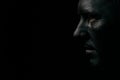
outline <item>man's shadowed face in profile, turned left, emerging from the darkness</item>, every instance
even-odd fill
[[[111,49],[116,39],[118,16],[115,11],[114,5],[107,0],[80,0],[78,3],[80,22],[74,36],[83,39],[84,54],[90,56],[92,66],[106,63],[114,51]]]

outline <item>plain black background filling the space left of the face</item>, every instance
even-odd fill
[[[79,22],[77,3],[78,0],[32,1],[24,5],[5,2],[4,65],[8,78],[80,75],[84,61],[80,60],[80,47],[73,38]]]

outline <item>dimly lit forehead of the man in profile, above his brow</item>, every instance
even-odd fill
[[[107,0],[79,0],[78,9],[88,12],[106,12],[112,9],[111,2]]]

